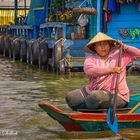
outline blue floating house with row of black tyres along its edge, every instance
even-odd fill
[[[140,48],[138,0],[31,0],[24,22],[14,17],[15,25],[0,26],[0,52],[39,68],[81,71],[88,55],[83,47],[98,32]],[[130,64],[129,72],[139,65]]]

